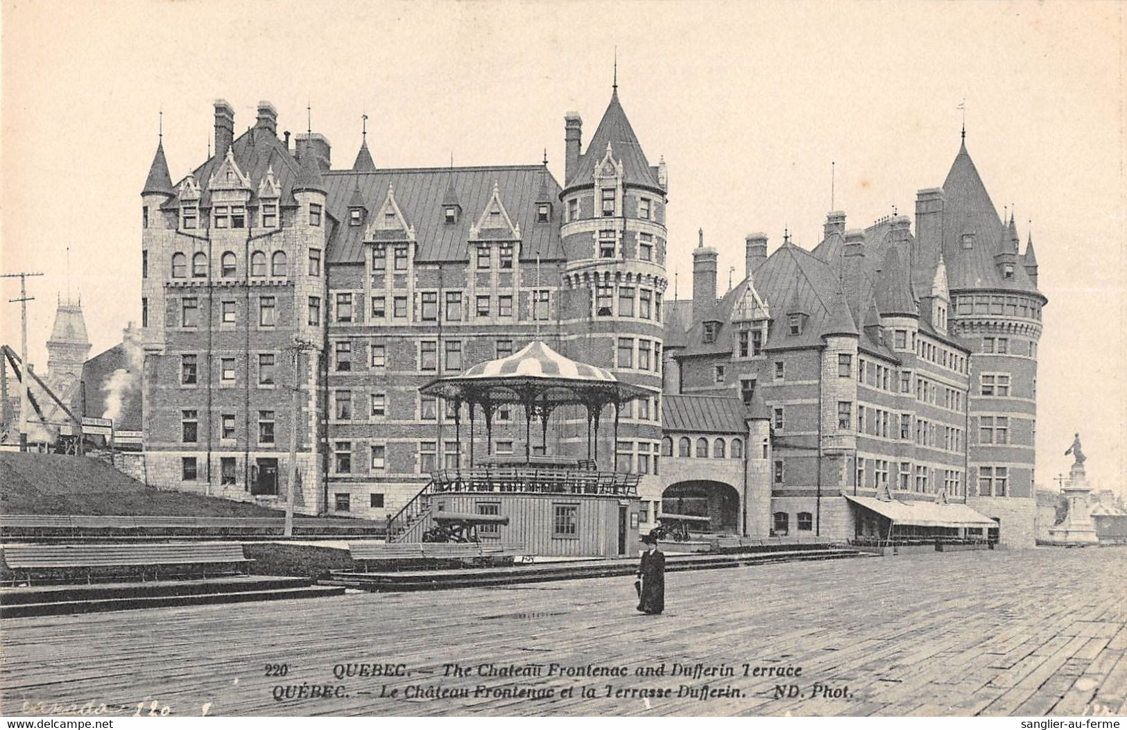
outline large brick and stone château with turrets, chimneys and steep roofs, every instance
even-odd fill
[[[753,234],[724,296],[701,235],[693,297],[668,301],[666,166],[616,87],[586,145],[565,117],[562,182],[547,159],[380,167],[366,133],[334,168],[268,103],[238,137],[231,105],[214,113],[214,154],[174,184],[159,144],[142,192],[150,483],[278,504],[292,449],[300,511],[382,518],[464,465],[471,430],[494,454],[583,456],[578,408],[527,445],[520,408],[488,429],[462,412],[459,443],[419,394],[543,340],[657,393],[607,409],[594,445],[641,475],[642,529],[664,500],[715,529],[844,540],[870,519],[845,495],[885,495],[967,502],[1031,544],[1045,297],[966,148],[914,235],[843,213],[813,251]]]

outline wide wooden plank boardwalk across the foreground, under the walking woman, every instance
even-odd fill
[[[1127,548],[1040,549],[671,573],[662,616],[635,612],[631,579],[604,578],[6,620],[0,711],[1116,713],[1124,576]],[[548,676],[552,662],[624,676]]]

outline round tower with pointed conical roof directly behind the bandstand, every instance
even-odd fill
[[[567,257],[564,319],[569,357],[610,368],[620,380],[662,388],[666,228],[665,176],[650,166],[619,101],[618,84],[591,142],[580,149],[578,115],[565,118],[567,177],[560,240]],[[660,399],[628,403],[619,443],[601,429],[598,459],[657,453]],[[613,412],[604,413],[610,424]]]

